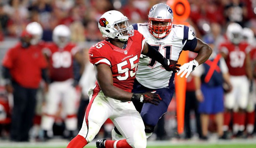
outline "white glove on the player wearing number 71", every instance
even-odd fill
[[[185,63],[180,66],[180,70],[178,71],[177,75],[180,75],[182,78],[186,74],[186,78],[188,78],[189,74],[198,66],[198,62],[196,60],[190,61],[189,63]]]

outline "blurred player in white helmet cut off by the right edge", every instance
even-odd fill
[[[256,103],[256,45],[254,33],[250,28],[243,28],[243,39],[251,45],[251,64],[253,67],[253,87],[249,94],[248,105],[246,108],[246,135],[251,137],[254,130],[255,122],[255,103]]]

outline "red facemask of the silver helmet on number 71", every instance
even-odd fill
[[[160,25],[157,25],[157,23],[159,23]],[[172,20],[171,19],[149,18],[148,26],[149,26],[150,33],[155,38],[164,38],[171,31]]]

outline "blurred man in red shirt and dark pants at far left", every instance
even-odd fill
[[[41,49],[31,45],[32,36],[27,31],[21,34],[21,41],[7,51],[3,59],[3,78],[8,93],[13,93],[13,110],[10,140],[29,141],[36,94],[42,78],[49,82],[47,63]]]

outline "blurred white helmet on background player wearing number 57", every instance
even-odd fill
[[[227,26],[227,38],[234,44],[242,41],[243,28],[238,23],[230,23]]]

